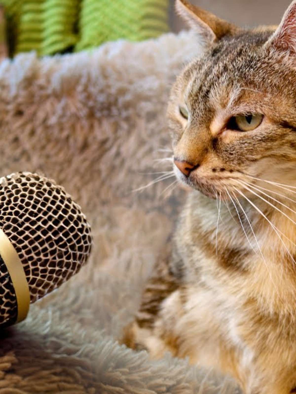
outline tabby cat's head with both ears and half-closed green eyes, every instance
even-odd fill
[[[253,30],[176,8],[204,43],[170,95],[177,178],[210,197],[256,178],[296,186],[296,0],[278,28]]]

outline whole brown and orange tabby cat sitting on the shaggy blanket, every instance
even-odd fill
[[[204,45],[168,106],[191,192],[123,342],[230,374],[247,394],[296,392],[296,0],[279,27],[252,30],[176,8]]]

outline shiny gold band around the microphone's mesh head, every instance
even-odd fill
[[[0,229],[0,255],[7,267],[17,298],[17,321],[24,320],[30,306],[30,292],[22,262],[9,238]]]

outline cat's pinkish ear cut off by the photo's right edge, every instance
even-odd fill
[[[265,46],[296,54],[296,0],[290,4],[281,24]]]

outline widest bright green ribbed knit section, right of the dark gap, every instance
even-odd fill
[[[76,50],[119,38],[141,41],[167,32],[168,0],[82,0]]]

